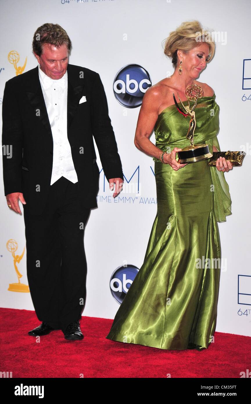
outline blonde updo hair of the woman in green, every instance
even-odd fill
[[[178,63],[177,50],[182,50],[184,53],[188,53],[189,50],[201,45],[201,40],[198,42],[198,33],[205,35],[205,43],[209,46],[209,58],[210,61],[214,55],[215,43],[211,40],[211,33],[209,31],[203,31],[199,21],[186,21],[182,23],[175,31],[170,32],[169,37],[165,39],[164,53],[169,58],[172,58],[172,64],[174,69]],[[208,38],[207,38],[208,36]]]

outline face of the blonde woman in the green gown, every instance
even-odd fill
[[[205,69],[209,57],[209,46],[202,42],[198,47],[191,49],[188,53],[182,53],[182,69],[191,78],[196,79]],[[179,65],[180,63],[178,63]]]

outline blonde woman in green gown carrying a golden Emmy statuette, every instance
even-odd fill
[[[197,42],[198,21],[184,22],[165,40],[174,73],[149,88],[134,143],[155,161],[157,215],[144,263],[117,311],[107,339],[160,349],[202,350],[213,341],[217,318],[221,247],[218,223],[231,215],[224,158],[179,164],[176,152],[190,144],[189,118],[178,112],[173,92],[187,105],[186,88],[204,92],[195,109],[194,143],[220,151],[219,106],[213,89],[197,81],[213,58],[214,42]],[[207,32],[205,32],[205,36]],[[210,37],[209,37],[210,38]],[[181,105],[181,103],[179,103]],[[155,131],[156,145],[149,137]]]

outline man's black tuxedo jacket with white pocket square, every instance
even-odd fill
[[[70,64],[67,73],[67,137],[79,197],[83,207],[95,208],[99,168],[93,137],[107,180],[123,179],[121,160],[99,74]],[[79,104],[83,95],[86,102]],[[2,120],[2,145],[12,151],[11,158],[3,152],[4,195],[22,192],[29,213],[40,215],[50,187],[53,139],[38,66],[6,82]]]

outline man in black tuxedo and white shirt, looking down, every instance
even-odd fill
[[[10,209],[23,204],[27,278],[42,321],[32,336],[61,329],[83,339],[86,300],[84,227],[97,207],[99,168],[115,198],[123,172],[107,99],[98,73],[68,64],[71,41],[58,24],[33,37],[39,65],[6,82],[2,103],[4,194]]]

